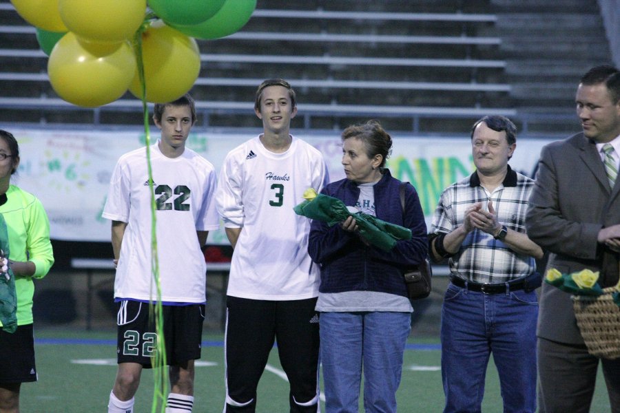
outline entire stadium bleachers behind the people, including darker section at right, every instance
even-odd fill
[[[527,130],[537,118],[549,123],[541,109],[565,123],[572,94],[566,83],[610,60],[597,2],[526,3],[260,1],[239,32],[198,41],[203,67],[192,94],[205,116],[198,126],[255,126],[247,104],[260,79],[276,76],[301,92],[305,116],[293,127],[340,129],[375,113],[390,129],[441,134],[498,113],[530,123]],[[134,123],[140,107],[130,102],[97,109],[60,102],[34,34],[8,1],[0,2],[0,121]],[[603,47],[579,59],[571,54],[597,40]]]

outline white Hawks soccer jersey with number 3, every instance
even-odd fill
[[[310,220],[293,207],[309,187],[327,182],[316,148],[293,137],[285,153],[265,149],[260,137],[230,151],[216,202],[228,228],[242,227],[232,257],[227,294],[268,300],[318,296],[320,273],[308,255]]]

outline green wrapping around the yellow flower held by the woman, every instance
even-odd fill
[[[411,230],[403,226],[391,224],[367,213],[352,213],[344,202],[322,193],[313,200],[305,200],[293,208],[297,215],[326,222],[333,226],[352,216],[360,228],[360,235],[371,245],[390,251],[397,240],[411,240]]]

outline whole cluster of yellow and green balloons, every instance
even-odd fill
[[[10,1],[37,28],[54,91],[84,107],[111,103],[127,89],[142,99],[143,87],[148,102],[182,96],[200,72],[194,38],[233,34],[256,8],[256,0]]]

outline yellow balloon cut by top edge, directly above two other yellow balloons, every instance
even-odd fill
[[[146,0],[59,0],[69,30],[90,41],[131,39],[144,20]]]

